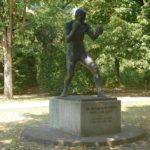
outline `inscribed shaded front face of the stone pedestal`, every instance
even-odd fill
[[[120,101],[90,101],[82,105],[82,134],[118,133],[121,130]]]

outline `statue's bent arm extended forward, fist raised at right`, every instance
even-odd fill
[[[93,30],[92,30],[92,28],[89,26],[89,25],[87,25],[87,34],[88,34],[88,36],[94,41],[94,40],[96,40],[97,38],[98,38],[98,36],[100,35],[100,34],[102,34],[103,33],[103,27],[102,26],[98,26],[97,27],[97,29],[96,29],[96,31],[94,32]]]

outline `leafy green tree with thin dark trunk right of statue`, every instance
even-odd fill
[[[88,11],[88,20],[93,24],[102,23],[104,34],[96,42],[96,54],[111,57],[114,66],[115,84],[120,84],[120,66],[123,59],[139,59],[139,45],[142,36],[142,26],[137,22],[141,13],[141,5],[137,1],[121,0],[82,1],[82,6]],[[101,43],[101,45],[99,44]],[[99,46],[98,46],[99,45]]]

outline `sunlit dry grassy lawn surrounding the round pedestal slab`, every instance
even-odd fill
[[[24,99],[24,102],[27,99]],[[31,99],[36,101],[33,97]],[[36,142],[27,142],[20,139],[22,131],[28,125],[48,121],[48,107],[33,106],[29,108],[0,109],[0,150],[150,150],[149,116],[150,101],[144,101],[143,99],[143,101],[138,102],[122,102],[122,124],[144,128],[147,132],[147,138],[135,143],[113,147],[63,147],[53,145],[45,146]]]

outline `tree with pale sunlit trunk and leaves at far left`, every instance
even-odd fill
[[[26,27],[27,6],[39,4],[41,1],[2,0],[0,2],[0,41],[2,41],[0,43],[4,55],[4,95],[8,99],[13,98],[12,49],[14,43],[20,38],[18,35]],[[16,38],[18,39],[16,40]]]

